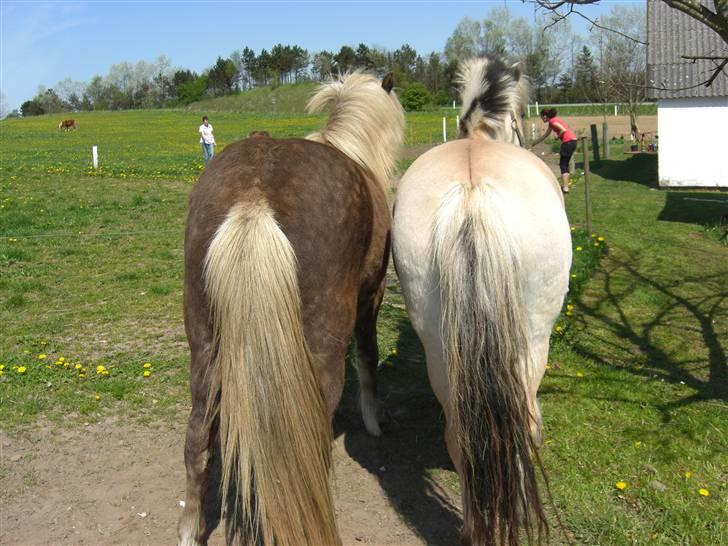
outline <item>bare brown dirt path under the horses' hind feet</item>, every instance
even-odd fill
[[[418,440],[414,426],[370,438],[357,421],[337,416],[333,447],[344,544],[455,543],[458,501],[423,478],[425,466],[448,467],[443,448]],[[118,419],[0,433],[0,544],[173,544],[183,436],[181,425]],[[218,527],[210,544],[223,537]]]

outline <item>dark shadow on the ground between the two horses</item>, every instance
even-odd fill
[[[404,312],[392,312],[385,304],[382,315],[389,315],[389,327],[399,332],[397,353],[387,355],[378,376],[379,399],[389,410],[389,423],[380,438],[367,434],[358,410],[356,374],[349,369],[334,434],[344,435],[349,456],[376,477],[389,502],[426,544],[457,544],[459,510],[453,496],[431,478],[453,467],[423,350]]]

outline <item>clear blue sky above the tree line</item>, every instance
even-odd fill
[[[622,0],[630,1],[630,0]],[[616,3],[588,8],[598,15]],[[633,3],[630,1],[630,3]],[[532,20],[520,0],[479,1],[67,1],[0,0],[0,90],[12,109],[39,85],[64,78],[87,83],[112,64],[166,55],[175,67],[201,72],[218,55],[277,43],[309,53],[365,43],[386,49],[410,44],[442,51],[464,17],[482,19],[496,6]],[[573,20],[576,30],[584,25]],[[580,28],[581,25],[581,28]]]

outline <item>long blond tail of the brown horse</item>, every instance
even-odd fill
[[[265,202],[230,209],[205,257],[222,499],[241,543],[337,544],[331,427],[304,338],[297,261]],[[223,503],[223,505],[225,502]]]

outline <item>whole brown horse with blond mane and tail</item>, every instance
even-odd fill
[[[219,434],[229,542],[338,544],[331,418],[356,335],[361,406],[375,407],[376,317],[390,251],[389,177],[404,113],[391,75],[323,85],[307,139],[263,133],[225,148],[191,192],[184,314],[192,411],[180,544],[204,544]],[[223,502],[225,506],[226,502]],[[232,535],[236,535],[233,537]]]

